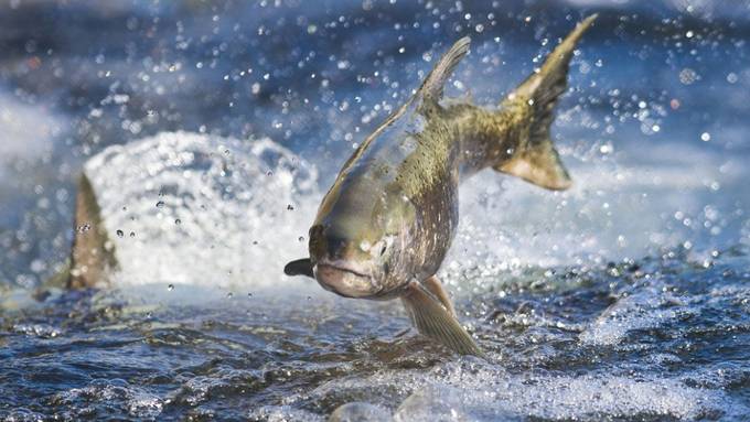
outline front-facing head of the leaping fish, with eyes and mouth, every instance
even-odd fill
[[[342,296],[389,299],[410,279],[415,212],[400,195],[394,201],[383,192],[363,203],[339,204],[310,229],[313,274],[323,289]]]

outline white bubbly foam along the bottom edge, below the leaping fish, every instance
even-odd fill
[[[289,404],[310,397],[371,392],[374,404],[404,396],[396,408],[396,421],[507,420],[542,418],[589,420],[597,418],[666,416],[696,419],[722,414],[728,398],[720,391],[690,388],[678,379],[639,375],[591,372],[559,376],[547,372],[514,375],[501,366],[478,360],[452,361],[435,367],[430,374],[384,370],[363,378],[326,382],[311,393],[292,396]],[[385,397],[383,397],[385,394]],[[726,414],[725,414],[726,415]]]

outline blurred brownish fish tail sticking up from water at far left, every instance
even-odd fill
[[[74,230],[67,286],[85,289],[106,282],[108,272],[118,267],[115,248],[107,236],[101,209],[85,173],[78,180]]]

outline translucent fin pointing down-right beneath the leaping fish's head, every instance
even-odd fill
[[[410,282],[401,300],[419,333],[459,355],[484,356],[456,317],[421,283]]]

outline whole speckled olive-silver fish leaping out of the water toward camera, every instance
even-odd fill
[[[419,333],[482,356],[436,277],[456,236],[459,182],[492,167],[548,190],[570,187],[549,126],[574,47],[596,17],[579,23],[499,109],[441,102],[469,52],[469,37],[457,41],[344,163],[310,228],[310,258],[289,262],[285,273],[314,278],[346,297],[400,297]]]

